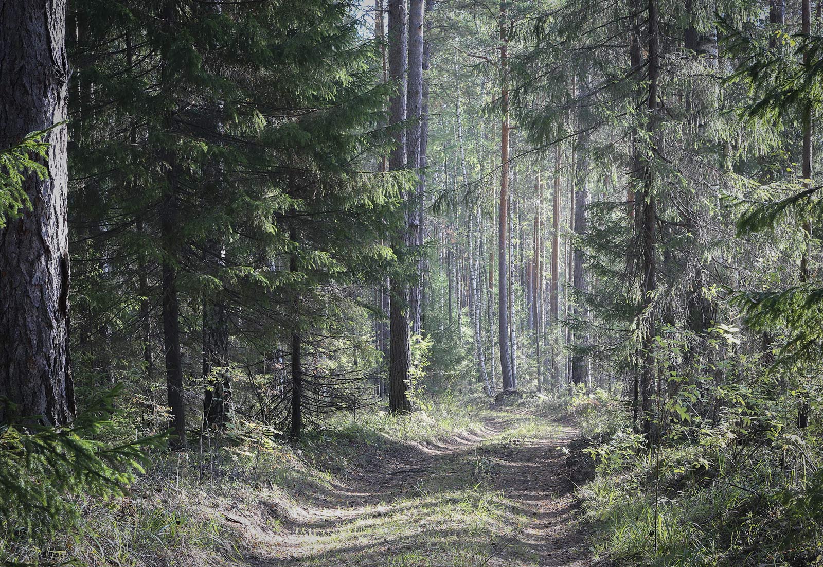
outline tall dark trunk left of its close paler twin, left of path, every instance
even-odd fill
[[[391,123],[406,119],[406,72],[408,54],[408,29],[405,0],[388,2],[388,75],[397,88],[391,100]],[[389,168],[393,171],[406,167],[407,138],[405,130],[395,132],[396,146],[389,157]],[[408,245],[407,229],[402,228],[392,235],[392,248],[403,253]],[[391,280],[389,306],[389,365],[388,365],[388,407],[393,413],[407,413],[412,410],[407,397],[409,374],[409,318],[408,286],[401,277]]]

